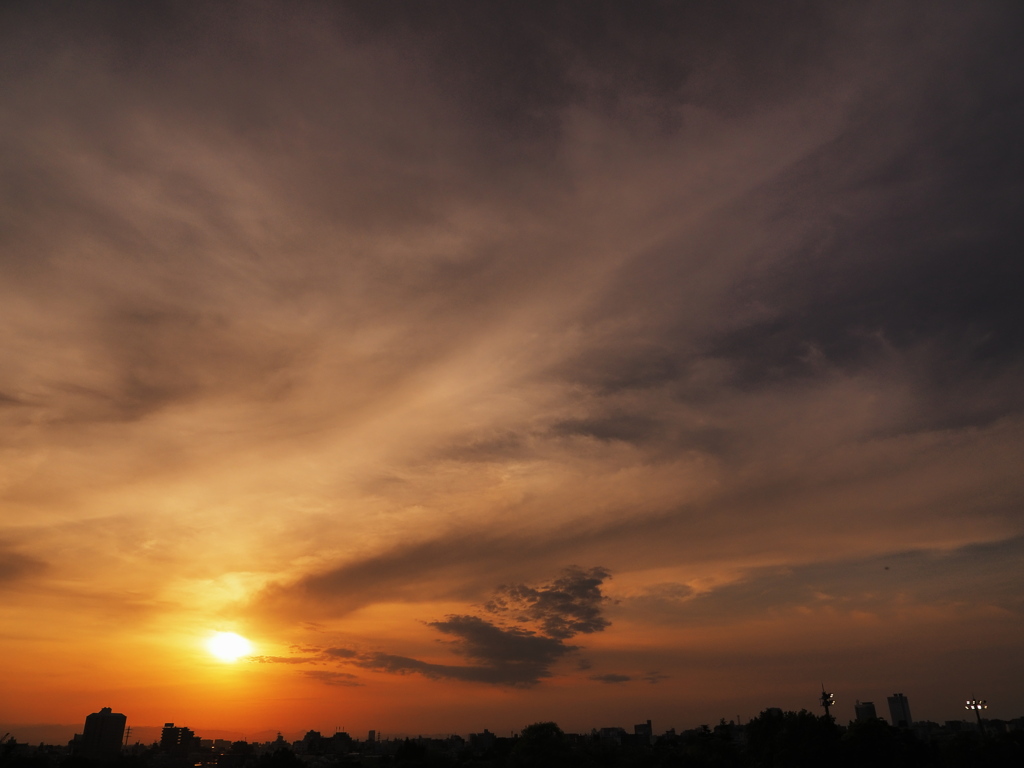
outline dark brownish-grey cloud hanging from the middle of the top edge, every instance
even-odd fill
[[[590,102],[609,116],[637,119],[644,106],[671,129],[673,101],[737,112],[752,100],[799,87],[844,13],[758,3],[456,2],[441,6],[346,6],[368,34],[406,40],[415,31],[445,90],[497,140],[540,139],[558,131],[560,108]],[[813,30],[813,32],[808,32]],[[727,60],[712,40],[726,36]],[[779,57],[779,48],[787,51]],[[711,87],[718,65],[731,86]],[[740,97],[741,96],[741,97]],[[664,114],[663,114],[664,111]]]

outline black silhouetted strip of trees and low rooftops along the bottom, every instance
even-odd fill
[[[766,710],[745,724],[724,720],[714,728],[663,735],[649,722],[634,733],[602,728],[589,734],[564,733],[552,722],[535,723],[511,737],[489,731],[447,738],[367,740],[347,733],[325,737],[309,731],[298,741],[215,742],[186,728],[165,728],[161,742],[96,754],[76,737],[67,746],[0,744],[2,768],[330,768],[331,766],[487,766],[488,768],[686,766],[717,768],[1020,768],[1024,765],[1024,718],[945,725],[919,722],[895,728],[884,720],[840,726],[807,711]],[[92,754],[90,754],[90,750]]]

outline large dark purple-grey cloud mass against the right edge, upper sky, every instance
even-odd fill
[[[630,336],[596,339],[600,353],[584,350],[569,376],[604,394],[674,382],[692,401],[701,394],[692,371],[707,360],[726,367],[727,391],[799,386],[898,359],[919,397],[894,431],[1019,413],[1022,390],[1010,382],[1024,365],[1013,289],[1024,278],[1013,202],[1022,117],[1010,105],[1024,77],[1018,68],[1004,75],[1016,27],[991,25],[969,25],[979,54],[955,49],[971,59],[965,71],[953,74],[965,65],[952,54],[911,70],[907,85],[918,90],[865,100],[840,136],[703,222],[726,245],[735,221],[760,229],[718,297],[714,324],[694,332],[692,307],[673,302],[703,266],[687,232],[624,266],[595,318],[607,327],[621,313]],[[641,301],[659,311],[643,312]]]

